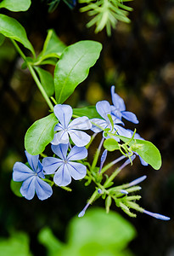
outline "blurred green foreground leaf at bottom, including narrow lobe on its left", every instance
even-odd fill
[[[64,244],[53,232],[44,228],[39,241],[48,249],[49,256],[128,256],[127,245],[136,236],[136,230],[116,212],[109,214],[104,209],[87,210],[83,218],[70,220]]]

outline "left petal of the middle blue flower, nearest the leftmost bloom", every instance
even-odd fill
[[[61,166],[63,163],[63,160],[59,160],[55,157],[45,157],[42,160],[43,170],[47,174],[53,174],[54,172],[56,172],[59,166]]]

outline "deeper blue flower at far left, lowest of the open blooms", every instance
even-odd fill
[[[36,192],[40,200],[45,200],[53,194],[51,186],[44,182],[44,174],[42,172],[42,164],[39,160],[39,155],[31,155],[25,151],[31,169],[25,164],[16,162],[13,168],[13,180],[22,182],[20,193],[26,199],[31,200]]]

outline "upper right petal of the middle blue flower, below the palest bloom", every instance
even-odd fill
[[[87,148],[74,146],[70,150],[67,160],[81,160],[87,157]]]

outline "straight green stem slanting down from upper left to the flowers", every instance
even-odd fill
[[[14,44],[15,49],[18,51],[18,53],[19,53],[20,56],[22,57],[22,59],[26,62],[27,67],[29,68],[29,70],[30,70],[30,72],[31,72],[31,75],[32,75],[33,79],[35,80],[38,89],[41,91],[42,96],[44,97],[45,101],[48,103],[49,108],[50,108],[51,110],[53,110],[53,104],[52,104],[52,102],[50,101],[50,99],[49,99],[49,97],[48,97],[46,91],[43,89],[41,82],[40,82],[39,79],[37,78],[36,73],[35,73],[33,67],[31,67],[31,64],[29,64],[29,63],[26,61],[25,54],[24,54],[24,53],[22,52],[22,50],[20,49],[19,45],[16,44],[16,42],[14,41],[14,39],[11,39],[11,41],[12,41],[12,43]]]

